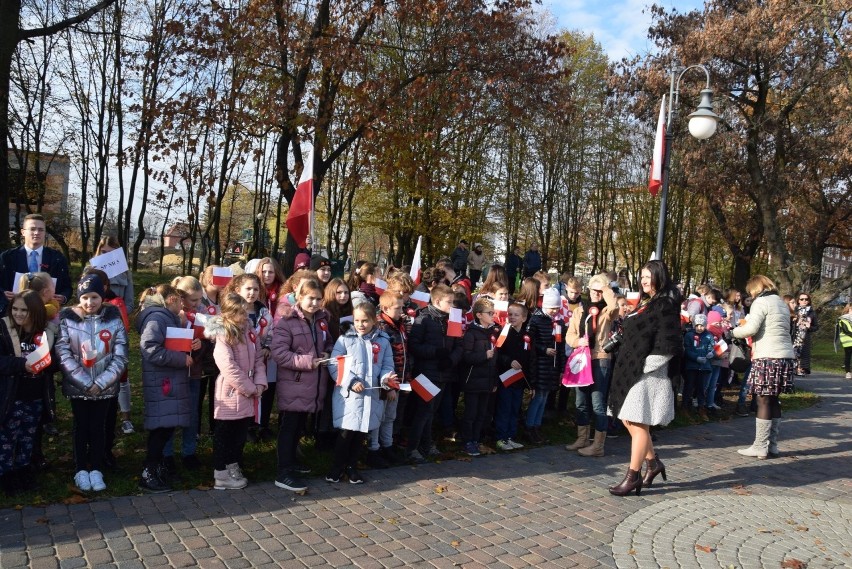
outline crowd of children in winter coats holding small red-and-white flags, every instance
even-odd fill
[[[580,280],[566,276],[551,287],[539,272],[510,299],[500,265],[474,291],[447,260],[425,270],[419,283],[405,270],[380,276],[372,263],[359,263],[345,282],[332,278],[327,259],[305,257],[289,279],[274,259],[263,258],[226,285],[208,267],[199,279],[178,277],[142,292],[133,314],[147,431],[140,489],[171,490],[178,428],[183,466],[201,466],[196,448],[205,398],[214,488],[222,490],[247,485],[243,449],[250,439],[277,437],[275,484],[295,492],[307,489],[303,477],[311,472],[300,460],[306,434],[332,451],[325,480],[352,484],[364,480],[364,450],[373,468],[439,456],[439,428],[457,433],[472,457],[493,452],[486,441],[500,451],[522,448],[521,437],[543,444],[545,411],[567,409],[566,364],[584,350],[593,382],[574,390],[578,437],[566,448],[603,456],[613,434],[609,374],[633,307],[611,275],[592,277],[583,297]],[[0,416],[10,418],[0,429],[4,487],[31,484],[26,467],[40,438],[38,417],[51,407],[51,375],[61,373],[73,414],[74,482],[83,491],[104,490],[118,397],[126,389],[128,303],[96,269],[81,278],[78,304],[61,311],[49,276],[28,279],[22,288],[30,290],[17,294],[0,320],[0,368],[12,379],[0,400]],[[746,311],[736,291],[709,287],[684,303],[681,405],[701,419],[718,408],[719,382],[729,382],[730,331]],[[847,378],[850,322],[847,307],[837,327]],[[43,345],[54,357],[33,367],[27,357]],[[127,413],[129,402],[120,411]],[[132,432],[132,424],[123,430]]]

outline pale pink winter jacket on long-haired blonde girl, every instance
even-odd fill
[[[253,417],[254,404],[258,397],[257,387],[266,389],[266,364],[263,352],[256,345],[254,333],[246,330],[242,341],[231,345],[225,339],[222,317],[211,318],[204,335],[216,339],[213,359],[219,368],[216,378],[216,393],[213,399],[213,417],[233,421]]]

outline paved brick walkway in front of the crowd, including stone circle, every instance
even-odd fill
[[[852,381],[789,413],[782,458],[738,455],[754,420],[659,435],[668,482],[607,486],[629,439],[312,480],[0,511],[0,567],[852,567]],[[806,565],[796,565],[795,561]],[[783,564],[783,565],[782,565]]]

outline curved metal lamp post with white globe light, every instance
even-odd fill
[[[707,77],[707,84],[701,90],[701,98],[698,102],[698,108],[694,113],[689,115],[689,134],[698,140],[704,140],[713,136],[716,132],[716,123],[721,120],[719,115],[713,112],[713,90],[710,89],[710,72],[703,65],[690,65],[683,69],[680,73],[673,71],[671,75],[671,86],[669,87],[669,112],[666,118],[666,149],[663,155],[663,179],[662,193],[660,195],[660,221],[657,226],[657,249],[655,252],[656,259],[663,258],[663,241],[666,236],[666,210],[668,209],[669,197],[669,170],[672,153],[672,141],[674,139],[674,129],[672,122],[677,113],[677,105],[680,97],[680,80],[684,74],[690,69],[701,69]],[[677,75],[677,79],[675,79]]]

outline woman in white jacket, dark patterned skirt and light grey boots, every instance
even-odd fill
[[[793,390],[796,354],[790,339],[790,310],[778,296],[775,283],[755,275],[746,283],[754,299],[745,322],[733,330],[735,338],[752,338],[749,389],[757,398],[754,444],[737,452],[764,459],[778,456],[781,402],[778,396]]]

